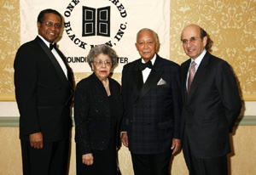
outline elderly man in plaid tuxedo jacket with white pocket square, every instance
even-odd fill
[[[154,31],[139,31],[142,58],[125,65],[122,74],[122,142],[135,175],[168,175],[171,156],[180,150],[180,67],[160,58],[158,46]]]

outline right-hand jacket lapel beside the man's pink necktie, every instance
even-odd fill
[[[207,52],[207,54],[201,60],[201,64],[199,65],[199,67],[195,73],[194,80],[191,84],[188,98],[190,98],[193,95],[193,93],[195,92],[195,88],[198,86],[198,83],[201,82],[201,79],[206,75],[209,57],[210,57],[210,54]]]

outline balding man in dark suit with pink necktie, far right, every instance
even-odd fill
[[[190,175],[227,175],[229,133],[240,114],[236,78],[230,65],[207,51],[212,41],[198,25],[181,35],[190,57],[182,65],[182,145]]]

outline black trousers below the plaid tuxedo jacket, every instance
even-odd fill
[[[135,175],[169,175],[172,150],[160,154],[139,155],[131,152]]]

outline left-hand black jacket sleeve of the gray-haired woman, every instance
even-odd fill
[[[89,86],[84,82],[79,82],[74,97],[75,140],[80,145],[83,155],[91,153],[90,132],[87,125],[90,104]]]

